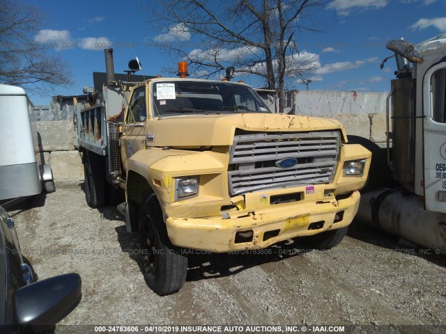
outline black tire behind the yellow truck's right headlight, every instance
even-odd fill
[[[371,191],[378,186],[388,186],[391,182],[390,175],[392,172],[387,165],[387,157],[383,150],[373,141],[360,136],[348,136],[348,143],[360,144],[371,152],[369,176],[366,184],[361,189],[361,193]]]

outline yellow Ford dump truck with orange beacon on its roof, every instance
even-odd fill
[[[106,60],[112,50],[105,50]],[[334,120],[271,113],[248,85],[153,77],[119,81],[78,108],[91,207],[125,189],[144,277],[157,294],[185,282],[187,253],[266,248],[295,237],[331,248],[345,236],[371,154]],[[97,97],[97,99],[95,99]]]

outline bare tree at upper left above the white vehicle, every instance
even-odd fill
[[[50,45],[34,40],[43,20],[38,8],[0,0],[0,82],[44,94],[54,86],[70,86],[65,62],[51,54]]]

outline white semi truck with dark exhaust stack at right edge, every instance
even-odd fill
[[[390,40],[387,49],[394,56],[385,61],[397,60],[397,79],[387,97],[387,129],[383,129],[387,157],[364,138],[357,143],[373,154],[369,180],[384,184],[389,177],[394,186],[363,193],[357,218],[445,253],[446,34],[419,45]],[[350,142],[353,139],[349,137]]]

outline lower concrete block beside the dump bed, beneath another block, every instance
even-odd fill
[[[77,151],[51,152],[47,162],[55,180],[84,180],[84,166]]]

